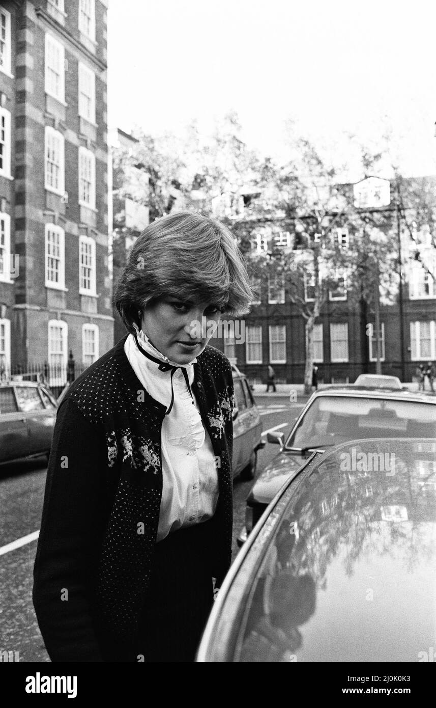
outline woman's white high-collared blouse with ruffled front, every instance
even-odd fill
[[[180,366],[155,349],[142,330],[138,331],[136,326],[135,329],[141,348],[162,362]],[[160,371],[156,362],[143,356],[132,334],[126,338],[124,351],[146,391],[168,409],[171,371]],[[190,387],[194,382],[195,362],[196,359],[182,365],[187,370]],[[195,393],[192,391],[193,405],[180,369],[175,372],[172,382],[174,403],[163,420],[161,431],[163,490],[158,541],[179,528],[210,519],[218,502],[215,454],[211,438],[201,421]]]

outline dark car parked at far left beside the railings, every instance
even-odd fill
[[[57,400],[40,382],[0,384],[0,462],[48,455]]]

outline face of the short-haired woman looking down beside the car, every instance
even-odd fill
[[[167,297],[146,306],[141,328],[161,354],[177,364],[188,364],[206,347],[220,315],[218,307],[210,302]]]

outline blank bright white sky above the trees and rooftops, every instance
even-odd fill
[[[289,120],[342,155],[346,133],[377,147],[389,126],[391,161],[433,174],[435,27],[434,0],[110,0],[108,121],[210,132],[235,110],[279,160]]]

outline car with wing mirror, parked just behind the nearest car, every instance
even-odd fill
[[[420,394],[358,389],[324,389],[310,397],[297,416],[288,439],[273,431],[267,439],[281,445],[278,455],[259,474],[247,498],[241,545],[278,489],[312,450],[358,438],[436,438],[436,401]]]

